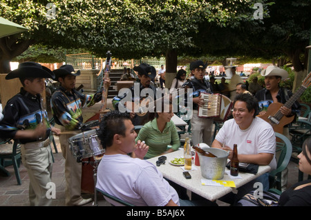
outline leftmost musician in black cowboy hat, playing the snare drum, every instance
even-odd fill
[[[19,78],[23,87],[6,103],[0,137],[21,144],[21,160],[30,179],[30,206],[50,206],[52,202],[46,198],[53,167],[49,136],[50,131],[59,134],[60,130],[48,123],[40,93],[44,91],[44,78],[53,77],[52,71],[34,62],[20,63],[6,75],[6,79]]]

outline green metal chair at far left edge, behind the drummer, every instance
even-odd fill
[[[14,141],[14,143],[4,143],[0,145],[0,161],[1,166],[4,168],[6,166],[6,159],[10,159],[12,162],[15,177],[17,179],[17,184],[21,185],[21,177],[19,175],[19,166],[21,164],[21,145]]]

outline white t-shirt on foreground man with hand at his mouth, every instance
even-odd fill
[[[176,190],[149,161],[124,154],[104,155],[98,167],[96,188],[135,206],[179,205]]]

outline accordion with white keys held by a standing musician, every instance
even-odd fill
[[[214,121],[223,122],[232,109],[232,101],[222,94],[207,94],[201,92],[203,106],[198,108],[198,117],[214,118]]]

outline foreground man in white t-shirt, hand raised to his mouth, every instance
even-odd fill
[[[143,160],[149,147],[140,140],[135,144],[137,134],[128,113],[106,113],[98,137],[106,151],[96,188],[135,206],[194,206],[180,200],[156,166]]]

